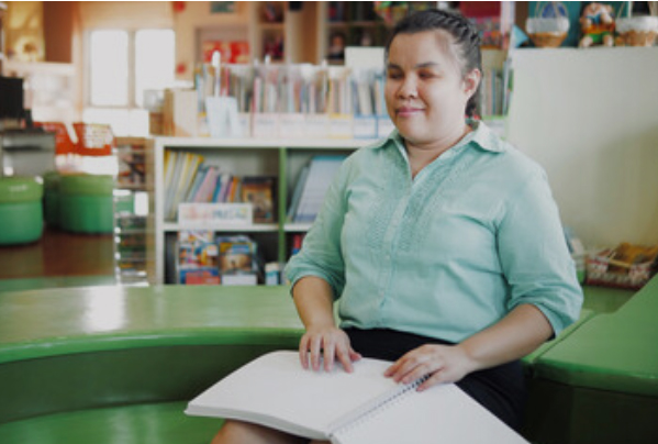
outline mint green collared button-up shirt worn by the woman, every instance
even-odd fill
[[[522,303],[555,334],[582,290],[542,167],[484,124],[411,177],[397,131],[342,165],[301,251],[294,285],[333,288],[342,326],[460,342]]]

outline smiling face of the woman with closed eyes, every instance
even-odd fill
[[[387,110],[400,134],[414,145],[464,131],[466,103],[476,91],[479,71],[462,76],[449,38],[435,31],[398,34],[389,48]]]

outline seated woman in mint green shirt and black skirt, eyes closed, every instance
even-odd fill
[[[445,11],[395,26],[386,102],[397,131],[344,163],[286,273],[303,367],[389,359],[395,381],[456,382],[518,429],[518,358],[577,319],[582,293],[542,168],[465,120],[479,44]],[[216,440],[304,442],[235,422]]]

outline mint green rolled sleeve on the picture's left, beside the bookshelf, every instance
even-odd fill
[[[302,248],[292,256],[285,274],[292,287],[305,276],[326,280],[339,298],[345,287],[345,264],[341,251],[341,233],[346,212],[345,185],[349,159],[341,166],[324,197],[322,209],[304,236]]]

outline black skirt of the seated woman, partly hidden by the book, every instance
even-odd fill
[[[454,345],[446,341],[394,330],[345,329],[352,347],[364,357],[398,360],[405,353],[424,344]],[[520,431],[526,400],[526,388],[521,362],[473,371],[456,382],[501,421]]]

